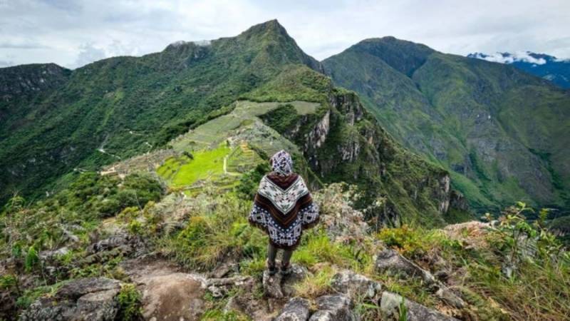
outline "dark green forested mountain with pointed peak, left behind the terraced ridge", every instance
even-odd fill
[[[68,79],[57,91],[22,108],[3,102],[0,200],[44,193],[73,168],[94,169],[162,146],[291,63],[321,68],[277,21],[268,21],[232,38],[178,42],[157,54],[61,71]],[[0,69],[0,79],[25,78],[27,69]],[[19,92],[1,88],[3,96]]]

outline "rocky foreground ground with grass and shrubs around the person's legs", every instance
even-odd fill
[[[215,193],[171,193],[103,220],[87,239],[66,225],[63,246],[40,251],[33,269],[0,261],[0,320],[564,320],[547,309],[568,305],[566,265],[538,264],[529,236],[504,255],[497,221],[375,231],[353,207],[356,192],[314,193],[321,222],[286,276],[264,270],[266,238],[247,225],[249,203]]]

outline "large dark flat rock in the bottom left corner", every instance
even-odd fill
[[[115,320],[119,306],[115,295],[118,280],[86,277],[63,285],[53,297],[41,297],[28,307],[20,320]]]

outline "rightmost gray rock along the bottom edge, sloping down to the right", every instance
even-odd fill
[[[391,292],[383,292],[380,300],[380,310],[390,317],[398,319],[400,316],[400,305],[403,303],[407,310],[408,321],[458,321],[454,317],[443,315],[429,307],[410,301]]]

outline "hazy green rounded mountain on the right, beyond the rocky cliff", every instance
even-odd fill
[[[323,66],[405,146],[453,170],[474,208],[570,208],[568,91],[393,37],[361,41]]]

